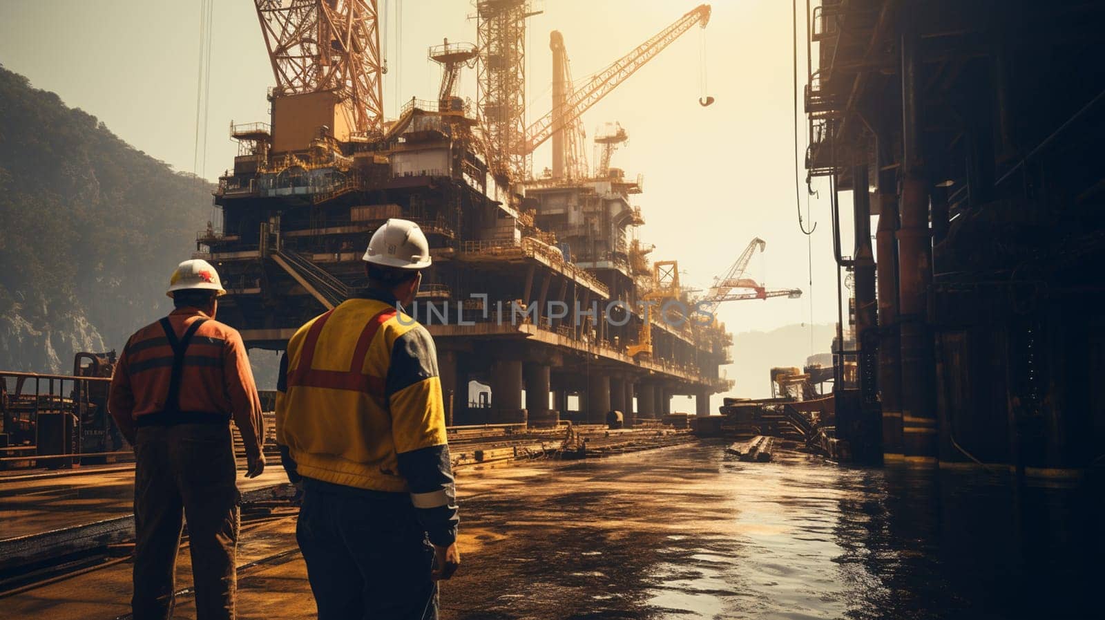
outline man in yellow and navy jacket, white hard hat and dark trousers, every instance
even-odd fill
[[[438,356],[402,313],[430,245],[388,220],[364,256],[369,286],[307,322],[281,360],[276,441],[304,490],[296,538],[319,620],[435,619],[460,565]]]

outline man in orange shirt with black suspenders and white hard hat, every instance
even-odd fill
[[[207,261],[180,263],[167,293],[176,309],[127,340],[108,410],[135,448],[135,620],[172,614],[181,516],[198,620],[234,618],[239,504],[230,431],[242,434],[246,477],[261,475],[264,422],[242,337],[214,320],[225,294]]]

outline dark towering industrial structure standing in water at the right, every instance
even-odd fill
[[[855,283],[838,359],[855,356],[859,387],[838,390],[838,437],[871,460],[1080,475],[1105,442],[1105,4],[811,15],[806,166],[831,183]]]

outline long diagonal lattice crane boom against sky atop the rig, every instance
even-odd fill
[[[621,85],[636,70],[656,57],[656,54],[691,30],[692,27],[697,24],[706,28],[709,22],[709,4],[701,4],[692,9],[652,39],[641,43],[633,51],[600,71],[582,87],[570,94],[566,93],[562,103],[558,102],[551,112],[534,122],[526,129],[525,143],[520,145],[518,155],[529,155],[552,134],[571,127],[580,115]]]

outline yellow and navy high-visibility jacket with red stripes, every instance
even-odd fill
[[[456,493],[433,338],[366,291],[288,340],[276,397],[288,477],[409,493],[435,545],[456,538]]]

